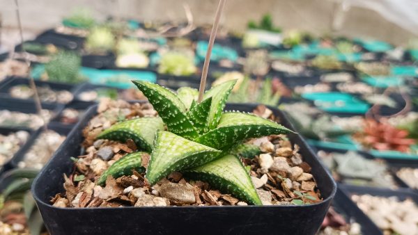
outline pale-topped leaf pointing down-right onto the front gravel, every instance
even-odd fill
[[[231,193],[251,204],[262,204],[247,170],[237,156],[228,154],[205,165],[184,170],[183,173],[185,177],[208,182],[222,193]]]

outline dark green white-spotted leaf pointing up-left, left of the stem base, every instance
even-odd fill
[[[199,136],[193,124],[186,117],[186,107],[171,90],[148,81],[132,81],[153,104],[169,131],[184,138]]]

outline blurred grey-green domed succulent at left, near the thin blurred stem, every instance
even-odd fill
[[[59,81],[63,83],[79,83],[82,76],[79,75],[79,67],[82,60],[70,51],[60,51],[52,57],[45,65],[49,81]]]

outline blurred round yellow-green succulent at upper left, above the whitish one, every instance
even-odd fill
[[[95,27],[86,38],[84,47],[94,53],[106,53],[114,49],[116,44],[115,36],[107,27]]]

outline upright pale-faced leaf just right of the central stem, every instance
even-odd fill
[[[226,100],[228,99],[233,86],[235,86],[235,83],[236,80],[226,81],[205,92],[203,99],[212,97],[212,104],[210,105],[208,118],[208,129],[214,129],[217,127],[222,111],[225,108]]]

